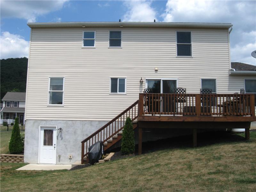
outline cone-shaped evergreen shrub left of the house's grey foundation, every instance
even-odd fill
[[[9,151],[11,154],[22,153],[24,146],[20,138],[20,128],[19,128],[19,117],[15,118],[15,123],[12,128],[12,136],[9,142]]]

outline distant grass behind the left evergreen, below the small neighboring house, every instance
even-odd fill
[[[1,154],[10,154],[9,151],[9,141],[12,135],[12,127],[9,125],[9,131],[7,131],[7,126],[1,125],[0,127],[0,153]],[[25,130],[25,125],[23,125],[22,128],[23,131],[21,131],[21,125],[20,125],[20,132],[24,132]]]

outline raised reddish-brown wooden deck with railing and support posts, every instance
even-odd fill
[[[143,128],[191,129],[193,147],[197,129],[245,129],[250,138],[251,122],[256,121],[253,94],[162,94],[139,95],[139,154]]]

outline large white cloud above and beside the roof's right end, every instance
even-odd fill
[[[168,0],[164,22],[232,23],[231,61],[256,65],[256,1]]]

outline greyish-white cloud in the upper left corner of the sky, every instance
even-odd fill
[[[26,19],[36,22],[36,17],[63,7],[66,0],[55,1],[1,1],[2,18]]]

